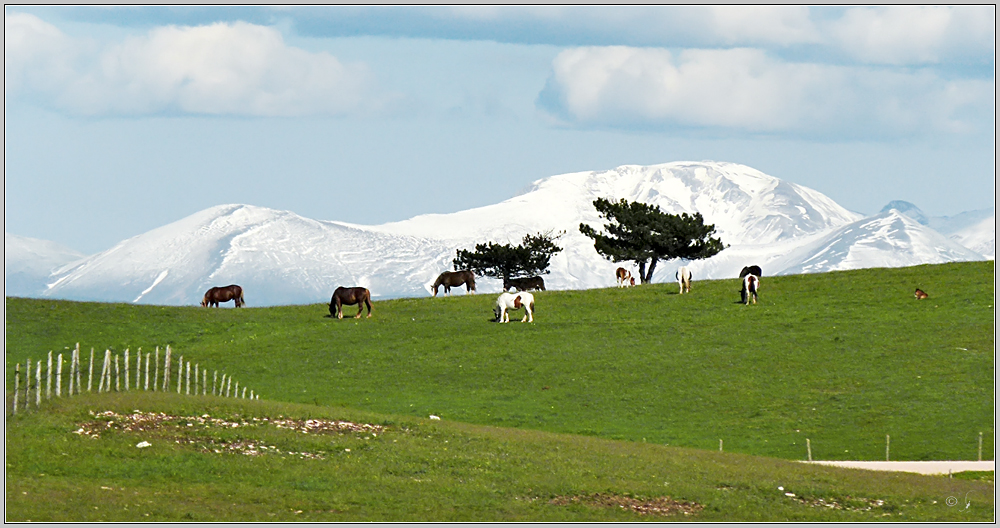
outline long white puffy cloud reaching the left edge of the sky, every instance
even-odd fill
[[[26,14],[5,15],[4,29],[8,96],[73,113],[342,115],[378,105],[366,67],[289,46],[266,26],[166,26],[108,46]]]

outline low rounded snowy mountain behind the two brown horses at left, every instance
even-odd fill
[[[240,284],[247,304],[329,302],[338,285],[422,293],[412,273],[448,250],[288,211],[221,205],[123,241],[59,270],[46,296],[194,304],[211,286]],[[430,273],[430,272],[427,272]],[[426,273],[425,273],[426,274]]]

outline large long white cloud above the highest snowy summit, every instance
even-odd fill
[[[576,126],[909,135],[966,130],[969,110],[992,101],[983,81],[788,63],[747,48],[575,48],[552,70],[539,104]]]

